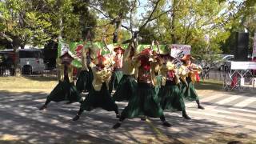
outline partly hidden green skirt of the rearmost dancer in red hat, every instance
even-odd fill
[[[122,78],[122,70],[114,70],[114,73],[112,74],[111,76],[111,79],[110,79],[110,94],[112,93],[112,90],[116,90],[117,87],[118,87],[118,84]]]

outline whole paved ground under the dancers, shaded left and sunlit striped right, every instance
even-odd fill
[[[256,138],[256,94],[201,94],[206,110],[198,110],[195,102],[186,102],[192,120],[181,118],[181,113],[167,111],[166,119],[173,124],[170,128],[163,127],[158,119],[141,122],[134,118],[123,122],[118,130],[111,129],[118,122],[114,112],[97,109],[83,113],[78,122],[72,122],[78,103],[52,102],[48,110],[39,111],[38,107],[45,100],[44,93],[0,91],[0,140],[10,138],[25,143],[182,143],[188,142],[184,139],[200,142],[216,130],[250,134]],[[126,104],[118,102],[119,110],[122,111]]]

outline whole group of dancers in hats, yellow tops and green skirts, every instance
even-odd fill
[[[158,42],[156,44],[158,46]],[[182,117],[190,119],[184,99],[196,101],[198,109],[204,109],[194,89],[195,74],[202,68],[192,63],[191,55],[185,55],[181,59],[183,65],[177,68],[170,51],[161,53],[159,47],[157,51],[149,47],[139,52],[136,41],[130,42],[126,50],[115,47],[110,55],[106,57],[94,46],[84,47],[82,69],[74,86],[71,64],[74,55],[68,50],[61,54],[57,60],[58,85],[39,110],[45,110],[52,101],[80,102],[73,121],[77,121],[84,110],[100,107],[115,112],[119,120],[113,128],[117,129],[126,118],[146,121],[148,117],[160,118],[163,126],[170,127],[165,110],[182,111]],[[82,91],[88,91],[86,98],[82,98]],[[115,102],[128,102],[128,105],[119,113]]]

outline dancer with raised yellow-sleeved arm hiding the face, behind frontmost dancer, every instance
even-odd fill
[[[136,42],[130,42],[128,48],[123,54],[123,75],[113,95],[114,101],[128,101],[136,92],[137,82],[134,78],[136,62],[134,61],[134,55],[138,54],[137,46]]]

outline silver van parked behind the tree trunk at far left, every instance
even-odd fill
[[[14,50],[1,50],[0,53],[8,54],[13,62],[15,61]],[[45,70],[42,50],[40,49],[19,49],[18,57],[22,74],[42,73]]]

